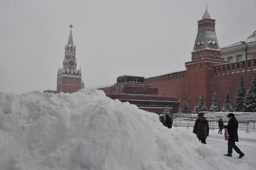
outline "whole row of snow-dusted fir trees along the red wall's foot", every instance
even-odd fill
[[[207,111],[205,105],[205,98],[201,96],[199,98],[197,111]],[[219,111],[216,102],[216,93],[213,93],[212,103],[209,108],[210,112]],[[239,86],[237,87],[236,97],[234,100],[234,109],[232,108],[231,102],[229,100],[228,91],[225,95],[225,100],[221,108],[222,112],[256,112],[256,72],[252,78],[251,87],[246,91],[245,81],[243,80],[243,74],[241,74],[241,79]],[[183,102],[183,108],[181,110],[184,114],[189,113],[189,103],[186,100]]]

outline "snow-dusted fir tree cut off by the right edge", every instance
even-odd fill
[[[256,72],[252,78],[251,87],[246,91],[243,103],[244,112],[256,112]]]

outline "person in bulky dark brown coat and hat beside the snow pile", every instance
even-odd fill
[[[209,124],[204,117],[204,113],[198,114],[198,118],[196,119],[193,128],[193,133],[196,134],[196,137],[202,142],[202,144],[206,144],[206,138],[209,136]]]

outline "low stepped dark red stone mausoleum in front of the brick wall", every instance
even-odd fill
[[[137,105],[139,109],[162,114],[168,109],[170,114],[178,112],[179,102],[175,97],[158,95],[158,88],[145,83],[144,77],[119,76],[117,83],[110,87],[100,88],[106,96]]]

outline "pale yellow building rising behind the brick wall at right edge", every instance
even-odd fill
[[[256,58],[256,31],[246,40],[222,47],[221,57],[227,62],[238,62]]]

